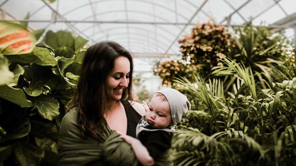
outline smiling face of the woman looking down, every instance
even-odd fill
[[[130,81],[130,71],[130,62],[128,58],[120,56],[115,59],[114,68],[107,79],[106,93],[108,101],[117,101],[121,99],[122,92],[128,87]]]

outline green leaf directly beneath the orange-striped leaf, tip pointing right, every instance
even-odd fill
[[[35,63],[42,66],[55,66],[57,61],[47,48],[34,47],[32,53],[22,55],[6,56],[9,61],[20,62],[24,64]]]

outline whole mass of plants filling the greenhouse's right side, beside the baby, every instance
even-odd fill
[[[168,79],[171,61],[158,65],[194,103],[173,137],[175,165],[296,165],[295,53],[281,33],[234,30],[197,25],[180,40],[180,74]]]

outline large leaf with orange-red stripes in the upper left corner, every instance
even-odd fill
[[[36,38],[20,24],[0,21],[0,52],[5,55],[32,52]]]

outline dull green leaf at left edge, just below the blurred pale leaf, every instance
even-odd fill
[[[7,85],[0,86],[0,97],[20,105],[21,107],[30,107],[32,105],[31,101],[27,100],[22,89],[16,89]]]

